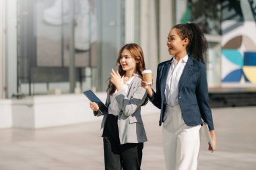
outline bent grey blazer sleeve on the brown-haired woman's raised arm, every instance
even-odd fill
[[[131,116],[139,107],[147,97],[146,89],[141,87],[140,83],[136,85],[137,90],[131,96],[131,99],[128,99],[125,90],[122,89],[115,93],[114,97],[117,99],[119,104],[121,105],[121,110],[125,116]]]

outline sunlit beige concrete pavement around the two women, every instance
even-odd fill
[[[214,108],[212,112],[218,151],[207,151],[202,131],[198,170],[256,169],[256,107]],[[148,142],[141,169],[165,169],[158,116],[143,115]],[[0,130],[0,170],[104,169],[101,119],[57,128]]]

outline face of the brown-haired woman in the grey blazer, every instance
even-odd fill
[[[121,58],[120,58],[120,65],[123,68],[123,71],[133,71],[135,72],[136,69],[136,61],[135,59],[131,56],[131,53],[129,50],[124,49],[121,53]]]

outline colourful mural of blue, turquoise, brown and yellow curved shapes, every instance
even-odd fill
[[[256,24],[222,22],[222,84],[256,85]]]

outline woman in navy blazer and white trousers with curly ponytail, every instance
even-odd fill
[[[178,24],[168,34],[170,60],[158,65],[156,91],[145,81],[150,101],[161,110],[166,169],[197,169],[202,120],[216,150],[205,72],[207,41],[195,24]]]

